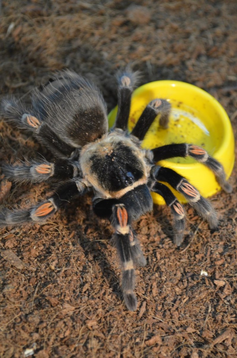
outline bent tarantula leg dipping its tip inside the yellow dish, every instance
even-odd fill
[[[160,126],[168,128],[171,105],[166,100],[155,99],[151,101],[142,112],[131,134],[143,140],[154,119],[160,114]]]

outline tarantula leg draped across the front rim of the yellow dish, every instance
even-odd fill
[[[210,168],[216,176],[216,180],[227,193],[232,192],[231,185],[226,181],[226,174],[221,163],[212,158],[202,147],[192,144],[168,144],[151,150],[155,162],[168,158],[190,156]]]

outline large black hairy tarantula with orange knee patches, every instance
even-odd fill
[[[149,127],[159,115],[159,125],[167,128],[170,103],[154,98],[127,131],[130,102],[137,74],[129,70],[118,76],[118,112],[113,128],[108,131],[106,104],[98,88],[88,79],[66,70],[35,89],[32,108],[27,109],[15,98],[4,99],[1,114],[7,122],[33,134],[54,155],[54,160],[32,160],[28,164],[4,165],[7,178],[18,182],[42,182],[51,178],[61,184],[45,201],[27,209],[0,214],[2,226],[22,222],[42,223],[74,197],[92,191],[93,211],[110,219],[113,239],[122,267],[122,292],[127,308],[136,310],[135,265],[145,266],[132,222],[153,208],[151,192],[159,193],[174,217],[174,243],[182,243],[185,212],[166,182],[208,221],[211,229],[218,226],[217,214],[209,201],[187,179],[157,163],[173,157],[191,156],[207,165],[226,192],[223,166],[201,147],[192,144],[169,144],[152,150],[141,148]]]

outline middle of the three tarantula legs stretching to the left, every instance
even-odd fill
[[[29,164],[5,164],[2,170],[6,178],[15,182],[40,183],[50,178],[72,179],[78,176],[80,167],[77,161],[67,159],[55,160],[54,163],[47,160],[30,160]]]

